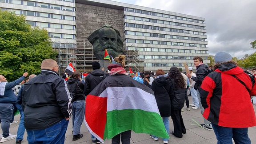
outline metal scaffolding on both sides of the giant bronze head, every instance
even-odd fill
[[[92,44],[88,40],[76,40],[76,44],[70,43],[52,43],[52,48],[58,52],[56,61],[59,65],[59,74],[64,73],[69,63],[72,63],[76,71],[89,72],[92,71],[92,61],[97,61],[93,54]],[[133,71],[144,70],[144,60],[140,60],[138,51],[124,50],[126,56],[126,65],[128,70]]]

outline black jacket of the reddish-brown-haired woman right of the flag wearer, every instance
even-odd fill
[[[156,104],[161,117],[171,116],[171,98],[172,84],[169,78],[160,77],[152,82],[151,89],[156,97]],[[169,94],[170,93],[170,94]]]

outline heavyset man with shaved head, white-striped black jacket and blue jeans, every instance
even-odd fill
[[[24,84],[22,103],[28,143],[64,144],[72,98],[58,71],[55,60],[43,60],[40,74]]]

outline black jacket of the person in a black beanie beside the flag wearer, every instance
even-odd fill
[[[88,95],[92,90],[104,80],[104,72],[100,69],[93,70],[88,76],[85,77],[84,94]]]

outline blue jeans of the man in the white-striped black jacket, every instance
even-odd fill
[[[27,130],[28,144],[64,144],[68,120],[61,120],[49,128]]]

